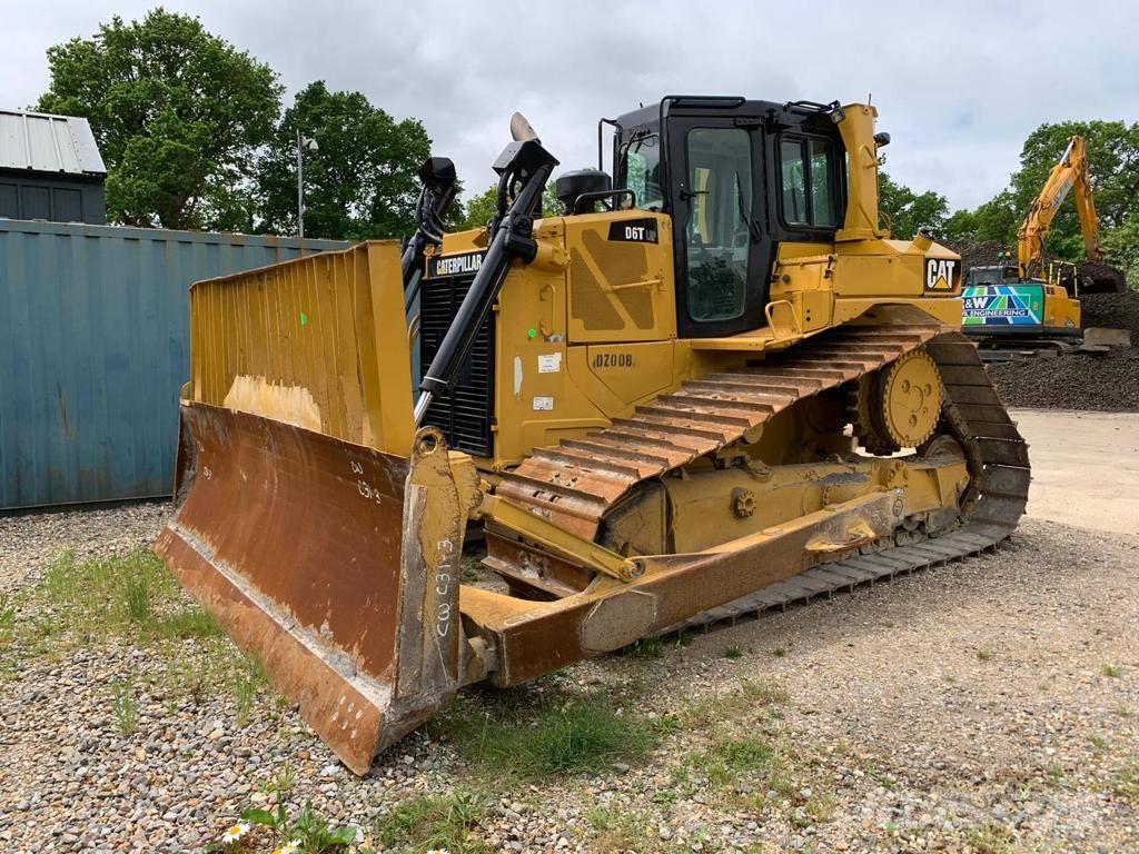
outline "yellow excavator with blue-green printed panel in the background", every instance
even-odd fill
[[[1074,264],[1044,265],[1044,241],[1064,199],[1075,191],[1076,213],[1087,256],[1104,260],[1099,221],[1091,191],[1088,146],[1083,137],[1068,140],[1040,195],[1017,232],[1016,263],[999,260],[966,272],[962,328],[994,345],[1023,347],[1030,340],[1080,337],[1080,277]]]

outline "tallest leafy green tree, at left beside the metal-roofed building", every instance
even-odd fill
[[[268,65],[161,7],[49,48],[48,65],[39,108],[90,121],[113,221],[248,229],[253,155],[280,112]]]

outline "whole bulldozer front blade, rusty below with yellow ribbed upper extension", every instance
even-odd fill
[[[413,433],[402,301],[383,243],[195,285],[178,507],[155,545],[357,773],[462,666],[472,491],[442,435]]]

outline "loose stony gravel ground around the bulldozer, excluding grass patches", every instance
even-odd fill
[[[0,582],[31,591],[59,545],[144,543],[162,512],[0,519]],[[1139,540],[1030,519],[995,555],[658,657],[575,666],[544,684],[601,685],[628,695],[630,714],[690,725],[645,759],[536,783],[480,775],[421,733],[357,779],[271,696],[241,726],[229,696],[156,689],[123,736],[107,687],[161,685],[159,656],[117,641],[0,648],[18,657],[0,684],[0,839],[19,852],[200,851],[289,763],[290,803],[364,827],[417,795],[489,789],[475,834],[492,851],[1137,851],[1137,559]],[[41,608],[30,592],[17,619]],[[187,642],[183,664],[196,655]],[[746,684],[764,698],[741,704]],[[459,709],[477,715],[493,693],[467,691]],[[716,733],[759,729],[794,780],[762,807],[693,758]],[[616,827],[599,819],[613,815]]]

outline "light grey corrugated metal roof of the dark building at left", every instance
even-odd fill
[[[0,109],[0,169],[105,175],[85,118]]]

